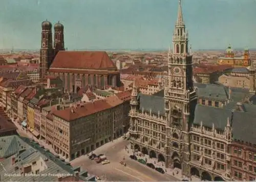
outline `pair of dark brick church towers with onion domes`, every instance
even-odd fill
[[[52,24],[46,20],[42,22],[40,49],[40,78],[45,78],[54,57],[58,51],[64,51],[64,26],[57,22],[54,25],[54,42],[52,45]]]

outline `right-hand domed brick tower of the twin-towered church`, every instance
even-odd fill
[[[54,25],[54,56],[64,50],[64,26],[58,21]]]

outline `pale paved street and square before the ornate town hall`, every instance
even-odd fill
[[[107,143],[97,148],[94,153],[104,154],[110,160],[110,164],[102,165],[91,161],[87,155],[71,161],[72,166],[80,166],[81,170],[87,170],[96,176],[101,176],[102,180],[113,181],[177,181],[178,179],[168,174],[161,174],[146,165],[131,160],[130,154],[124,150],[128,141],[119,138],[114,142]],[[119,164],[125,156],[126,167]]]

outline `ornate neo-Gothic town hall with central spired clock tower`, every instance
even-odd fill
[[[193,84],[192,54],[179,0],[164,90],[133,86],[130,140],[134,151],[204,180],[253,180],[256,159],[255,71],[249,90]],[[254,170],[253,170],[254,169]]]

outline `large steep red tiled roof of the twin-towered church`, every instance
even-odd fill
[[[69,69],[110,69],[114,62],[104,51],[59,51],[53,60],[54,67]]]

